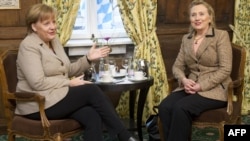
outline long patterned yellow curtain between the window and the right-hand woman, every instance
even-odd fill
[[[168,83],[161,48],[156,35],[157,0],[118,0],[122,21],[126,32],[135,45],[134,59],[149,62],[149,75],[154,77],[144,106],[145,121],[168,94]],[[121,116],[128,115],[128,95],[124,94],[116,110]],[[136,109],[135,109],[136,110]]]

